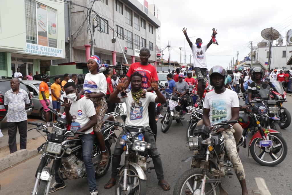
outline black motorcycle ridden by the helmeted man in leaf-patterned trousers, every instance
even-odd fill
[[[197,150],[198,155],[183,159],[181,162],[188,162],[192,158],[198,161],[197,168],[191,168],[184,172],[175,184],[173,195],[184,195],[188,188],[192,195],[213,194],[218,195],[225,191],[221,187],[221,178],[232,175],[231,170],[225,167],[227,152],[225,150],[225,138],[221,133],[216,133],[221,127],[231,127],[236,120],[222,121],[214,130],[209,130],[205,125],[197,126],[194,129],[194,137],[188,138],[190,150]],[[192,180],[194,183],[192,184]]]

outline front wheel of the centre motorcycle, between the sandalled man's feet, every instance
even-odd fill
[[[141,180],[137,174],[136,169],[130,165],[128,170],[127,177],[127,190],[123,191],[123,183],[124,183],[124,169],[121,169],[117,177],[116,184],[116,195],[126,195],[126,194],[135,194],[135,195],[146,195],[146,180]],[[131,176],[137,175],[136,177]]]

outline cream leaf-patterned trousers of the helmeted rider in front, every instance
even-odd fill
[[[243,169],[243,165],[241,163],[241,160],[238,156],[237,150],[236,150],[236,144],[235,144],[235,139],[233,136],[234,129],[230,128],[226,131],[223,131],[222,134],[224,135],[225,139],[225,149],[227,151],[227,156],[230,158],[230,161],[233,165],[235,175],[237,176],[237,179],[239,181],[245,180],[245,173]],[[198,155],[199,151],[195,150],[194,155]],[[191,162],[191,168],[196,168],[200,167],[201,162],[198,161],[198,159],[192,159]]]

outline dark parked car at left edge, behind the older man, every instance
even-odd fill
[[[7,109],[4,107],[4,94],[11,89],[10,87],[10,80],[11,79],[0,79],[0,122],[4,122],[7,120]],[[27,92],[28,97],[30,99],[30,103],[26,108],[26,113],[27,115],[30,115],[33,111],[34,108],[34,102],[32,101],[32,95],[29,92],[29,90],[27,89],[27,87],[25,86],[25,84],[23,84],[22,81],[20,81],[20,85],[19,85],[20,89],[23,89]]]

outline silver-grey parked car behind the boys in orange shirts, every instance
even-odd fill
[[[43,121],[46,121],[45,116],[44,116],[44,108],[41,105],[41,103],[39,102],[39,85],[41,84],[41,81],[35,81],[35,80],[24,80],[22,81],[25,86],[29,89],[29,91],[32,93],[32,101],[34,103],[34,109],[31,113],[31,115],[35,115],[35,116],[40,116],[41,119]],[[53,108],[53,104],[52,104],[52,96],[51,96],[51,84],[50,82],[47,82],[48,86],[49,86],[49,91],[50,91],[50,106]],[[63,100],[63,92],[61,91],[61,99]],[[61,113],[65,112],[65,107],[63,104],[61,104],[61,109],[60,109]],[[52,120],[52,113],[49,112],[49,121]]]

